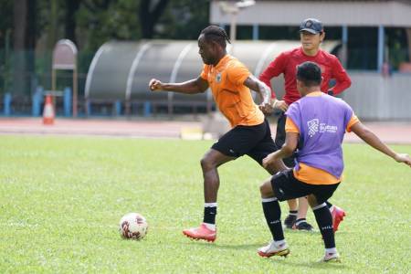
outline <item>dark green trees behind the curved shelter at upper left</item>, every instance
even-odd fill
[[[148,1],[148,0],[144,0]],[[142,25],[139,20],[141,0],[37,0],[26,2],[36,5],[35,16],[30,16],[27,26],[33,27],[37,39],[36,48],[26,49],[21,62],[25,71],[15,73],[26,75],[26,95],[30,94],[29,79],[36,76],[37,84],[50,89],[51,55],[59,39],[69,37],[79,48],[78,64],[79,79],[84,79],[89,70],[91,59],[98,48],[112,39],[134,40],[142,38]],[[155,0],[149,1],[156,5]],[[76,5],[79,4],[79,5]],[[14,72],[13,50],[14,33],[14,2],[2,1],[0,16],[0,93],[11,89]],[[200,30],[208,22],[209,1],[172,0],[160,16],[159,22],[154,22],[156,38],[196,39]],[[69,27],[68,27],[69,26]],[[24,26],[23,26],[24,27]],[[68,28],[71,31],[68,31]],[[25,27],[25,29],[28,29]],[[28,33],[32,35],[32,33]],[[8,37],[8,38],[7,38]],[[26,37],[27,33],[26,33]],[[5,49],[9,47],[8,49]],[[30,67],[30,69],[28,69]],[[33,68],[34,67],[34,68]],[[58,83],[61,83],[59,80]],[[84,88],[83,83],[80,89]],[[34,91],[34,90],[31,90]],[[80,90],[81,93],[81,90]]]

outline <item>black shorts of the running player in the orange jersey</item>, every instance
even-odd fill
[[[269,153],[277,151],[266,119],[255,126],[238,125],[221,136],[211,148],[230,157],[247,154],[259,164]]]

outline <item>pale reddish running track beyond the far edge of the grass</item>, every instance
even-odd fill
[[[364,122],[387,143],[411,143],[409,122]],[[0,134],[79,135],[133,138],[180,138],[184,128],[199,128],[200,121],[56,119],[54,125],[43,125],[41,118],[0,118]],[[271,123],[275,134],[275,122]],[[345,142],[361,142],[353,133]]]

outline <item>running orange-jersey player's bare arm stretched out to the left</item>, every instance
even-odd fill
[[[183,83],[163,83],[158,79],[151,79],[149,88],[152,91],[174,91],[185,94],[201,93],[208,89],[208,82],[201,77]]]

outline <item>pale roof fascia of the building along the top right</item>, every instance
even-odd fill
[[[411,26],[410,1],[256,1],[242,10],[237,24],[299,26],[305,18],[320,18],[325,26]],[[212,24],[230,24],[218,1],[210,5]]]

